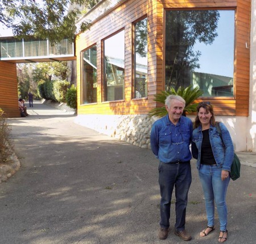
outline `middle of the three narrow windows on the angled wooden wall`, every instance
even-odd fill
[[[123,100],[125,83],[125,31],[104,41],[104,101]]]

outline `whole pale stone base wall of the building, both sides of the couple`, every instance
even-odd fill
[[[195,115],[188,118],[195,121]],[[124,140],[135,146],[142,148],[150,147],[150,131],[152,124],[159,118],[150,118],[148,115],[100,115],[100,114],[80,114],[75,118],[75,122],[96,130],[110,137]],[[216,116],[216,121],[223,122],[229,130],[237,152],[246,150],[246,117]],[[250,150],[252,151],[252,150]]]

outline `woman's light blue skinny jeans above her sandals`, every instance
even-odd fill
[[[221,180],[222,168],[217,164],[212,166],[200,164],[199,177],[203,186],[205,197],[205,208],[207,212],[208,226],[214,225],[214,201],[218,210],[218,220],[220,221],[220,230],[225,231],[228,219],[228,210],[226,207],[226,190],[230,177]]]

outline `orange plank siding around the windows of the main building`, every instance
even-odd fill
[[[234,49],[234,97],[210,97],[216,115],[248,116],[250,77],[250,0],[127,0],[108,14],[95,20],[90,30],[76,38],[78,114],[147,114],[162,106],[154,94],[164,89],[164,17],[167,9],[233,9],[236,10]],[[148,95],[133,99],[133,23],[148,18]],[[103,99],[103,42],[118,31],[125,30],[125,96],[121,101]],[[97,103],[81,105],[81,52],[97,44]],[[197,101],[197,102],[198,102]]]

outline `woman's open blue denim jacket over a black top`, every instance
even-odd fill
[[[220,129],[221,129],[223,144],[222,144],[220,135],[217,132],[216,127],[210,125],[210,129],[209,129],[210,145],[212,146],[212,152],[213,152],[214,159],[217,163],[217,166],[227,171],[230,171],[230,167],[232,165],[233,158],[234,158],[234,147],[233,147],[233,143],[232,143],[232,139],[230,137],[229,131],[228,129],[226,129],[226,126],[224,125],[224,123],[220,123]],[[197,163],[196,163],[197,169],[200,168],[202,141],[203,141],[203,133],[202,133],[202,127],[200,125],[195,130],[193,130],[192,144],[191,144],[193,158],[197,159]]]

